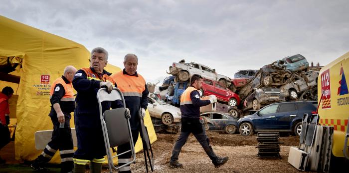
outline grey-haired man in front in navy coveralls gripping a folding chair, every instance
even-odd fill
[[[74,173],[85,173],[85,165],[90,163],[90,173],[101,173],[106,149],[101,127],[97,91],[105,87],[111,92],[114,80],[111,73],[104,70],[108,63],[108,52],[101,47],[91,51],[90,67],[78,70],[73,79],[77,91],[74,122],[78,149],[74,153]],[[120,100],[113,102],[115,108],[123,107]],[[102,112],[111,108],[111,102],[102,102]],[[125,117],[130,113],[126,109]]]

